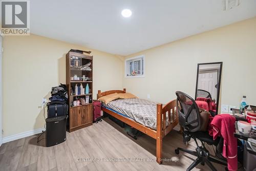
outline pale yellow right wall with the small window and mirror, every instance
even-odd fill
[[[256,104],[256,17],[126,58],[142,54],[145,77],[123,77],[127,92],[140,98],[166,103],[178,90],[194,98],[197,63],[223,61],[221,103],[238,106],[247,95]]]

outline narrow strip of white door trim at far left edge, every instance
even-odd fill
[[[3,55],[2,55],[2,37],[0,36],[0,146],[2,145],[2,112],[3,112],[3,109],[2,109],[2,97],[3,97],[3,91],[2,91],[2,59],[3,59]]]

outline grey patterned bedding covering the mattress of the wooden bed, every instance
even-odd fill
[[[130,117],[146,127],[157,129],[157,103],[155,102],[138,98],[117,99],[104,104],[104,106]],[[168,115],[166,116],[166,125],[169,125]]]

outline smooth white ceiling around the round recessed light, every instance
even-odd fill
[[[31,33],[129,55],[256,16],[256,0],[240,3],[223,11],[223,0],[31,0]]]

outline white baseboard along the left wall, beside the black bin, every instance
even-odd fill
[[[27,131],[27,132],[24,132],[24,133],[19,133],[19,134],[16,134],[16,135],[3,137],[2,143],[6,143],[6,142],[14,141],[14,140],[17,140],[17,139],[20,139],[20,138],[25,138],[25,137],[29,137],[31,135],[39,134],[42,131],[45,131],[44,127],[40,128],[40,129],[32,130],[32,131]]]

